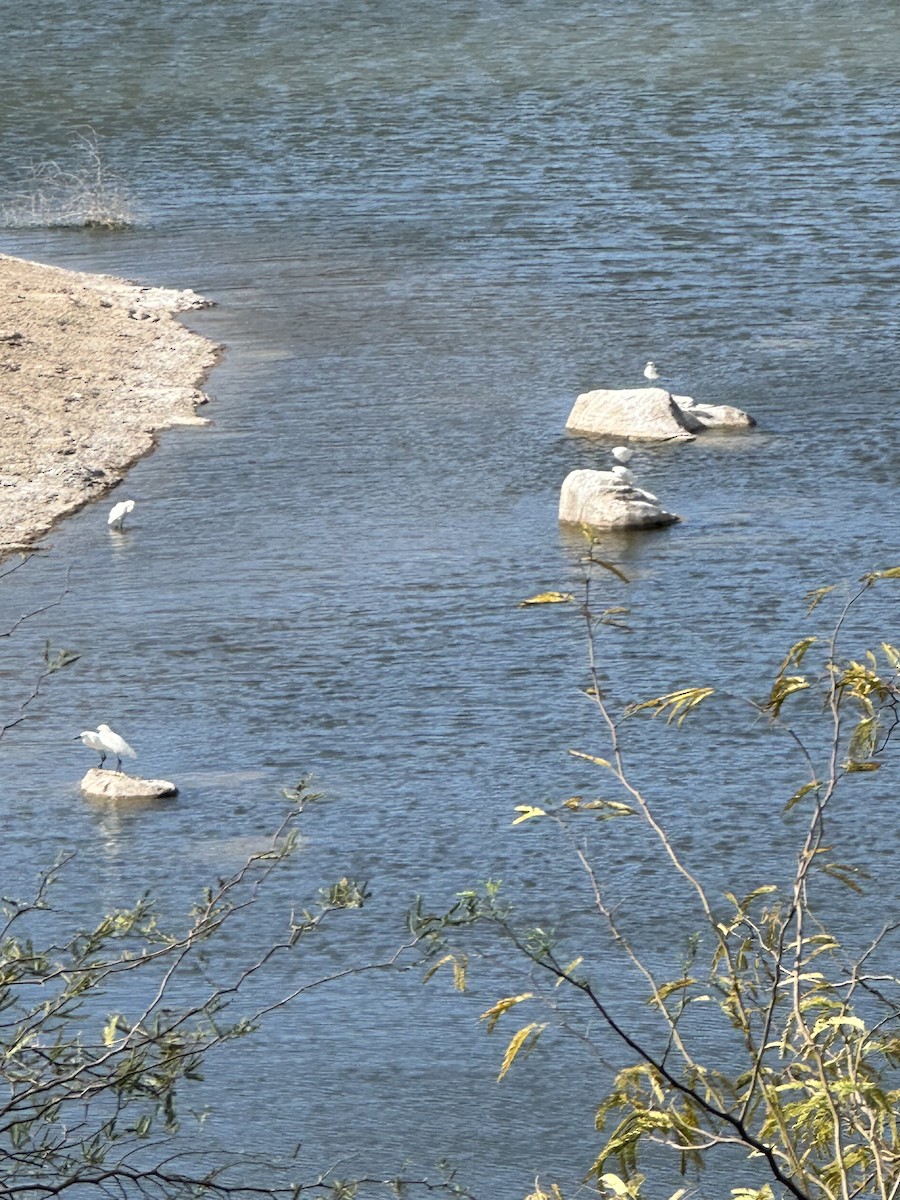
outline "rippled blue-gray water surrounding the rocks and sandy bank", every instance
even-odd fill
[[[0,748],[5,894],[74,846],[73,911],[144,887],[176,911],[312,772],[334,804],[292,888],[302,901],[354,874],[374,893],[334,961],[400,937],[418,892],[449,902],[488,875],[546,922],[577,919],[588,898],[562,852],[510,821],[600,786],[566,754],[602,752],[583,636],[574,611],[516,604],[577,589],[558,490],[606,448],[565,418],[648,358],[758,427],[640,451],[640,481],[684,522],[604,545],[632,578],[608,586],[635,628],[604,647],[617,696],[758,695],[809,628],[806,590],[898,560],[896,7],[758,7],[5,14],[2,186],[31,161],[77,164],[91,127],[140,221],[7,229],[2,248],[192,287],[217,307],[188,324],[228,348],[212,427],[163,434],[120,488],[128,533],[107,533],[108,504],[85,509],[4,581],[7,628],[71,568],[64,602],[4,643],[5,714],[44,637],[82,655]],[[79,797],[73,737],[103,720],[142,772],[179,782],[176,804]],[[799,761],[737,704],[695,737],[642,737],[637,775],[691,860],[764,875]],[[890,786],[851,793],[876,870],[896,851],[869,820]],[[673,884],[614,839],[596,850],[655,946]],[[878,892],[893,910],[890,875]],[[560,1048],[497,1086],[502,1044],[476,1027],[494,996],[413,976],[312,994],[222,1056],[217,1128],[248,1148],[302,1141],[311,1171],[445,1157],[497,1200],[536,1171],[578,1178],[602,1070]]]

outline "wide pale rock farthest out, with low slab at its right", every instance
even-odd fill
[[[748,428],[752,416],[728,404],[695,404],[665,388],[599,388],[575,401],[570,433],[599,433],[647,442],[691,442],[709,428]]]

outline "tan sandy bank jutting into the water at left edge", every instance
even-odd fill
[[[119,482],[158,430],[206,424],[221,347],[174,316],[206,304],[0,254],[0,558]]]

